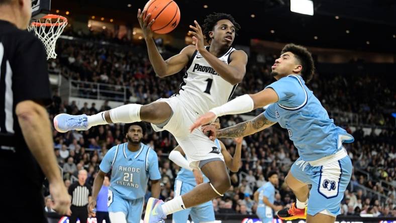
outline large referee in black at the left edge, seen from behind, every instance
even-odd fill
[[[0,175],[7,180],[0,183],[1,222],[47,222],[44,175],[54,209],[70,212],[44,107],[51,100],[46,54],[40,40],[26,31],[31,4],[0,0]]]

